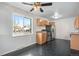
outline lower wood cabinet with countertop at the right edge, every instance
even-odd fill
[[[79,33],[73,33],[71,35],[70,48],[79,50]]]

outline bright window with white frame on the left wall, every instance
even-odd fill
[[[13,15],[13,36],[32,33],[32,19]]]

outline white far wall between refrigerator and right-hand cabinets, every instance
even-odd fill
[[[75,17],[58,19],[56,22],[56,38],[70,40],[70,34],[74,31]]]

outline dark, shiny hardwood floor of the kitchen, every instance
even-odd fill
[[[9,56],[10,55],[11,54],[9,54]],[[79,53],[71,52],[70,41],[62,39],[49,41],[44,45],[34,44],[30,46],[28,49],[24,48],[24,51],[17,54],[17,56],[78,56],[78,55]]]

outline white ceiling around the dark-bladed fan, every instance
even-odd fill
[[[24,9],[25,11],[32,13],[34,15],[52,18],[55,11],[61,14],[63,17],[73,17],[79,15],[79,2],[52,2],[52,6],[42,7],[43,13],[40,11],[30,12],[32,6],[24,5],[21,2],[8,2],[8,4]]]

